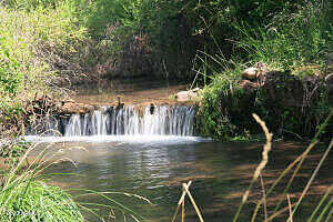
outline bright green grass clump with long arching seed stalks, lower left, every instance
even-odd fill
[[[39,143],[30,144],[29,149],[16,162],[7,165],[1,171],[0,183],[0,221],[43,221],[43,222],[83,222],[87,221],[82,212],[98,218],[100,221],[105,219],[98,213],[99,208],[108,209],[111,212],[119,212],[124,218],[130,216],[134,221],[144,221],[139,213],[130,208],[113,200],[110,195],[122,194],[132,199],[152,203],[144,196],[133,193],[121,192],[97,192],[87,189],[63,190],[58,186],[49,185],[46,178],[49,175],[44,172],[53,164],[67,161],[75,167],[74,161],[69,158],[61,158],[63,149],[60,149],[52,155],[47,157],[48,145],[39,154],[28,160],[29,154],[39,145]],[[83,150],[83,148],[72,148]],[[63,173],[63,176],[67,174]],[[79,191],[80,193],[72,196],[70,192]],[[107,203],[82,203],[74,201],[77,198],[97,195],[104,199]],[[115,214],[114,214],[115,215]]]

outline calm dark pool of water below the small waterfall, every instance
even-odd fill
[[[73,149],[83,147],[84,149]],[[263,172],[268,188],[280,172],[292,162],[306,145],[295,143],[276,143],[270,154],[270,162]],[[50,152],[63,149],[63,157],[69,157],[75,167],[59,163],[48,170],[48,173],[71,173],[52,175],[50,182],[65,189],[72,189],[74,195],[84,191],[73,189],[90,189],[94,191],[117,191],[135,193],[148,198],[154,205],[142,200],[121,194],[110,195],[112,199],[133,209],[149,221],[171,221],[178,200],[181,195],[181,183],[192,180],[190,191],[195,202],[203,211],[205,221],[231,221],[248,188],[255,167],[261,159],[262,144],[236,142],[63,142],[54,143]],[[291,190],[292,202],[301,194],[303,188],[317,164],[323,148],[317,148],[304,162],[300,175]],[[309,216],[327,188],[333,183],[330,174],[332,153],[322,167],[314,185],[309,191],[311,198],[305,198],[294,221]],[[331,171],[332,172],[332,171]],[[279,186],[281,192],[286,181]],[[260,182],[255,183],[249,203],[242,211],[241,221],[249,216],[261,198]],[[107,203],[97,196],[77,198],[79,202]],[[276,193],[269,198],[272,205],[276,204]],[[269,205],[270,205],[269,203]],[[108,216],[110,211],[101,209],[100,214]],[[263,219],[260,212],[259,219]],[[122,219],[120,219],[122,220]],[[89,216],[89,221],[99,221]],[[186,200],[186,221],[198,221],[195,212]],[[280,218],[274,221],[285,221]]]

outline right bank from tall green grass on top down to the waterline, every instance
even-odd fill
[[[230,41],[240,54],[232,59],[223,52],[200,52],[196,61],[203,68],[195,71],[210,78],[200,109],[201,132],[228,140],[251,139],[260,132],[251,118],[258,113],[278,137],[311,138],[330,112],[324,82],[333,47],[330,6],[327,1],[309,1],[296,9],[285,4],[266,26],[235,22],[240,37]],[[240,84],[241,73],[256,62],[276,75],[268,79],[268,85],[246,89]]]

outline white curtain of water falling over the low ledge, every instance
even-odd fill
[[[185,105],[103,107],[84,115],[72,114],[64,137],[82,135],[193,135],[195,110]]]

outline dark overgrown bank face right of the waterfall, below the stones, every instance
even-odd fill
[[[251,80],[235,80],[232,88],[214,82],[205,89],[200,109],[201,133],[218,138],[256,134],[259,114],[275,134],[312,137],[330,112],[324,78],[269,71]]]

